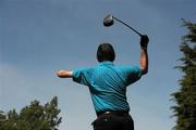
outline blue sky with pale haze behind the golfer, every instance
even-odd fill
[[[107,14],[148,35],[149,73],[127,89],[135,130],[171,130],[171,93],[183,75],[173,67],[196,22],[195,0],[0,0],[0,109],[20,112],[30,101],[58,96],[60,130],[91,130],[96,114],[87,87],[56,76],[59,69],[97,65],[99,43],[110,42],[117,65],[139,65],[139,37],[120,23],[103,27]]]

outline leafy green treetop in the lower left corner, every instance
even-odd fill
[[[33,101],[17,114],[15,109],[7,115],[0,113],[0,130],[58,130],[61,117],[58,117],[58,98],[54,96],[50,103],[40,105]]]

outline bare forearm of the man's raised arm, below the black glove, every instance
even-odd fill
[[[140,68],[143,69],[144,74],[148,73],[148,52],[147,48],[140,49]]]

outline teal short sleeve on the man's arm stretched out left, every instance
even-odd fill
[[[82,69],[73,70],[72,74],[73,81],[85,86],[89,86],[93,75],[91,70],[93,70],[91,68],[82,68]]]

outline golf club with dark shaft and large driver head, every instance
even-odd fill
[[[138,32],[137,30],[135,30],[133,27],[131,27],[130,25],[127,25],[126,23],[122,22],[121,20],[112,16],[111,14],[108,14],[105,20],[103,20],[103,25],[106,27],[112,26],[113,25],[113,20],[120,22],[121,24],[125,25],[126,27],[128,27],[130,29],[132,29],[133,31],[135,31],[137,35],[139,35],[140,37],[143,36],[140,32]]]

